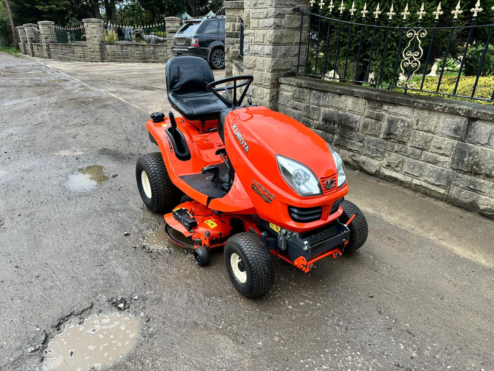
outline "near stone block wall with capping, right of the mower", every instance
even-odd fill
[[[494,107],[283,77],[278,110],[352,167],[494,218]]]

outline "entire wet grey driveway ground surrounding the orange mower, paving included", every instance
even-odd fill
[[[77,358],[73,329],[113,313],[138,330],[109,370],[494,369],[493,220],[348,169],[367,243],[306,275],[273,258],[274,287],[246,299],[220,251],[197,266],[142,207],[134,164],[157,150],[144,124],[166,104],[163,66],[71,63],[79,81],[0,53],[0,370],[47,367],[66,327],[55,339]]]

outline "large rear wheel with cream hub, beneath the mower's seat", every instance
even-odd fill
[[[180,203],[183,192],[171,182],[160,152],[139,157],[135,178],[142,201],[149,210],[167,213]]]

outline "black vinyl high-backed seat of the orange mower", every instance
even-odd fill
[[[166,62],[166,91],[172,107],[188,120],[215,120],[226,105],[206,85],[214,81],[200,57],[179,56]]]

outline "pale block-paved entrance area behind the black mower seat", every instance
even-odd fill
[[[166,98],[165,64],[93,63],[33,58],[147,113],[171,110]],[[225,70],[213,70],[215,79]],[[178,113],[174,111],[174,114]]]

